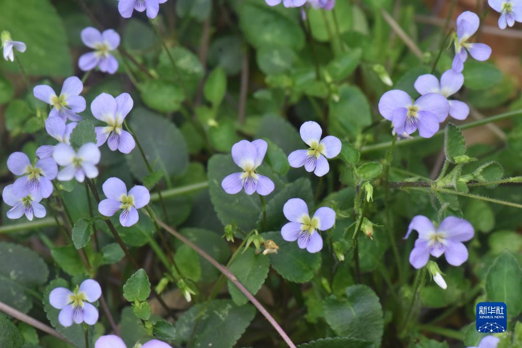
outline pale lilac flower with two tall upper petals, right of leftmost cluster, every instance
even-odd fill
[[[114,98],[107,93],[101,93],[91,103],[92,115],[107,124],[96,127],[96,145],[102,146],[105,141],[112,151],[131,152],[136,143],[128,131],[122,129],[123,121],[133,107],[133,100],[128,93],[122,93]]]

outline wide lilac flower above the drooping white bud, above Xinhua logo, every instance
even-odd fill
[[[428,263],[430,254],[435,257],[444,254],[450,265],[462,265],[468,259],[468,249],[462,242],[469,241],[475,233],[473,226],[464,219],[447,217],[435,229],[430,219],[423,215],[417,215],[411,220],[405,239],[412,230],[419,233],[410,253],[411,266],[417,269]]]

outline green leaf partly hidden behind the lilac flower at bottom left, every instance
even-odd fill
[[[47,314],[47,319],[51,322],[51,325],[56,329],[56,331],[60,332],[65,338],[67,338],[71,343],[73,343],[78,348],[85,348],[85,332],[84,327],[82,325],[72,325],[69,327],[64,327],[58,321],[58,315],[60,314],[60,309],[56,309],[49,303],[49,294],[51,291],[56,289],[56,287],[65,287],[66,289],[70,289],[69,283],[64,279],[58,278],[54,279],[49,283],[49,285],[45,288],[43,292],[43,309]],[[94,346],[94,326],[88,326],[88,337],[89,337],[89,348]]]

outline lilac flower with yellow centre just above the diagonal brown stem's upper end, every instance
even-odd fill
[[[106,179],[102,189],[107,198],[100,202],[98,211],[105,217],[112,217],[116,211],[123,209],[120,223],[125,227],[138,222],[138,209],[145,207],[150,201],[150,193],[145,186],[134,186],[127,193],[127,186],[117,177]]]

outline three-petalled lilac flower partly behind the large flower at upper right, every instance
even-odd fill
[[[446,70],[441,76],[441,83],[431,74],[421,75],[415,81],[415,89],[421,95],[438,93],[446,99],[457,93],[464,84],[464,75],[456,73],[453,69]],[[469,106],[460,100],[449,100],[449,116],[455,119],[466,119],[469,115]]]

